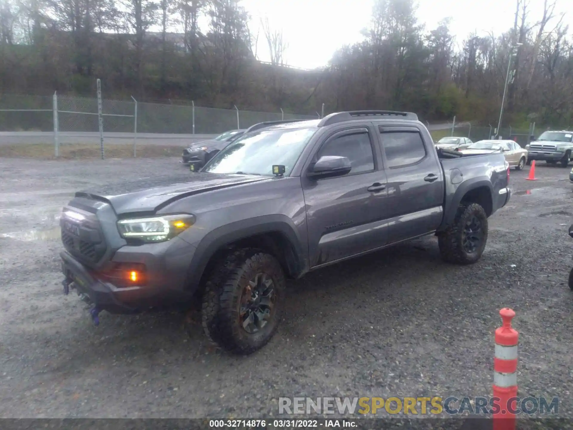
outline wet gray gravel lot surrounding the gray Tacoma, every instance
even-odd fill
[[[540,163],[535,182],[511,172],[475,265],[442,263],[430,237],[291,282],[278,333],[249,357],[213,349],[199,325],[188,335],[176,312],[104,312],[94,327],[62,295],[58,215],[72,193],[185,178],[176,159],[0,159],[0,171],[0,417],[270,418],[278,397],[490,396],[505,306],[519,396],[559,396],[573,417],[568,169]]]

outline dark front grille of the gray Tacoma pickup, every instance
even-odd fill
[[[60,220],[62,244],[66,250],[85,263],[97,263],[106,251],[105,240],[97,221],[72,222]]]

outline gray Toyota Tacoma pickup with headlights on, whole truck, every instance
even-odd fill
[[[265,123],[188,175],[64,207],[64,292],[96,324],[198,302],[211,341],[249,354],[277,329],[286,278],[428,234],[445,261],[475,263],[510,198],[503,154],[436,149],[409,112]]]

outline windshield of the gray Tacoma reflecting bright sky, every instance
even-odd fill
[[[221,150],[201,171],[272,176],[273,165],[291,173],[317,128],[262,130],[243,135]]]

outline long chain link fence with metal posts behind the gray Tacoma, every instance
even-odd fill
[[[99,120],[103,123],[100,133]],[[185,139],[208,138],[236,128],[282,119],[317,119],[320,115],[218,109],[190,104],[138,103],[131,100],[60,96],[0,95],[0,132],[5,142],[29,143],[44,135],[42,143],[86,143],[96,140],[134,143],[138,137],[158,143],[159,135],[172,144]],[[7,140],[6,132],[11,140]],[[49,133],[49,135],[48,135]],[[142,136],[145,135],[145,136]],[[168,136],[167,136],[168,135]],[[47,136],[47,138],[46,138]],[[53,136],[53,137],[52,137]],[[189,143],[189,142],[187,142]]]

